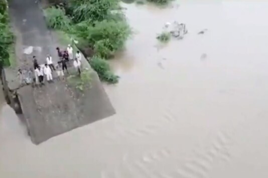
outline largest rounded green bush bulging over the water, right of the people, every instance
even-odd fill
[[[115,20],[95,22],[94,26],[91,20],[83,21],[75,25],[74,31],[78,37],[94,46],[96,54],[101,57],[107,57],[121,49],[130,35],[126,21]]]

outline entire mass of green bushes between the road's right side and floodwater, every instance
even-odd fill
[[[122,49],[131,29],[120,9],[119,0],[69,0],[64,5],[45,9],[50,28],[62,30],[77,38],[79,48],[93,48],[90,59],[92,68],[101,80],[116,83],[114,75],[105,59]],[[79,44],[81,45],[81,44]],[[85,54],[85,53],[84,53]],[[91,57],[91,56],[86,56]]]

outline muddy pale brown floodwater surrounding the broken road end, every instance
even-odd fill
[[[105,86],[117,113],[36,146],[1,97],[1,177],[268,177],[268,3],[124,6],[135,35]],[[159,45],[173,20],[189,33]]]

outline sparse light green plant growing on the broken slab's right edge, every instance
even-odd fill
[[[80,91],[91,87],[91,72],[88,68],[83,69],[81,75],[72,74],[67,77],[67,81]]]

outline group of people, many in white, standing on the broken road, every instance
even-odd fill
[[[68,44],[66,50],[61,51],[59,47],[56,48],[59,56],[59,61],[54,66],[54,62],[52,60],[52,56],[47,54],[46,63],[39,65],[36,56],[33,56],[33,64],[35,70],[35,78],[36,82],[40,83],[40,85],[44,84],[44,76],[48,82],[53,81],[52,71],[56,71],[59,79],[64,79],[64,72],[68,71],[67,64],[73,60],[73,65],[78,72],[78,75],[81,73],[81,59],[82,55],[79,51],[76,52],[75,58],[73,58],[73,48],[70,44]]]

